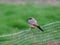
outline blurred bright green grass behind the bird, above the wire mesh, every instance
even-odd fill
[[[36,18],[41,26],[60,21],[60,6],[0,4],[0,35],[29,28],[29,17]]]

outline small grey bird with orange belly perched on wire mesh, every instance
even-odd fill
[[[39,30],[44,31],[37,23],[37,20],[33,17],[28,18],[28,24],[31,28],[38,28]]]

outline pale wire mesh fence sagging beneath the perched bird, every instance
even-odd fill
[[[0,45],[46,45],[49,40],[60,42],[60,21],[42,26],[38,29],[27,29],[14,34],[0,36]]]

